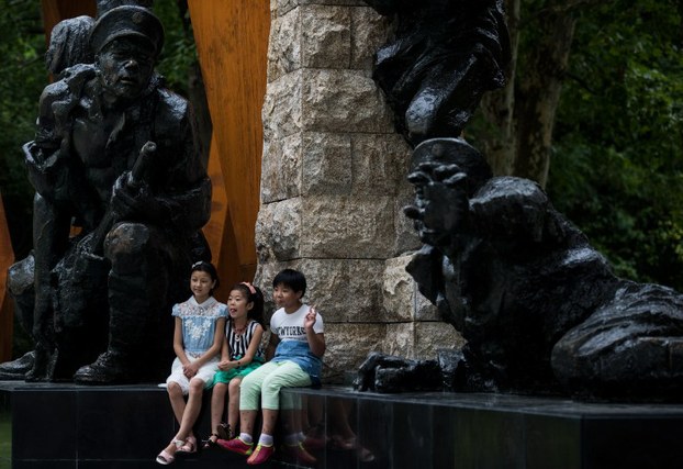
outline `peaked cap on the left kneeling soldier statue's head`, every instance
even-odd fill
[[[123,5],[109,10],[94,23],[90,34],[90,47],[97,54],[119,37],[141,37],[149,42],[156,55],[164,46],[164,26],[148,9]]]

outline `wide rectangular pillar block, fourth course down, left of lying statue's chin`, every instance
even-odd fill
[[[394,244],[393,200],[352,197],[305,198],[302,257],[384,259]]]

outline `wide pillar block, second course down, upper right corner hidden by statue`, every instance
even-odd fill
[[[305,131],[393,133],[393,118],[369,76],[329,69],[303,74],[300,116]]]

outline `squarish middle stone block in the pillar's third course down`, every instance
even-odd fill
[[[303,191],[306,196],[351,192],[351,138],[348,134],[304,133]]]

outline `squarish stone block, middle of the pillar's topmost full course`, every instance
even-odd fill
[[[328,4],[301,8],[301,24],[303,67],[349,67],[351,18],[348,8]]]

